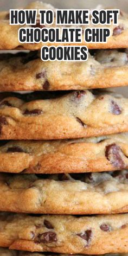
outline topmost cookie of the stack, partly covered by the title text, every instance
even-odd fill
[[[55,12],[55,9],[52,7],[52,5],[43,3],[43,2],[34,2],[29,4],[25,9],[53,9]],[[107,27],[110,29],[110,37],[107,40],[107,43],[87,43],[86,46],[90,49],[101,49],[101,48],[126,48],[127,47],[127,38],[128,38],[128,18],[127,14],[125,12],[120,11],[119,15],[119,22],[118,25],[107,25]],[[77,25],[76,27],[78,27]],[[0,30],[1,30],[1,42],[0,42],[0,49],[15,49],[17,47],[21,47],[23,49],[29,49],[29,50],[36,50],[41,49],[41,47],[44,45],[43,43],[20,43],[18,41],[18,29],[21,27],[31,27],[30,25],[9,25],[9,12],[1,12],[0,13]],[[42,28],[44,25],[40,25],[39,16],[37,16],[36,25],[34,25],[36,28]],[[56,26],[55,18],[54,23],[52,25],[45,25],[46,28],[49,27],[57,27],[62,28],[62,25]],[[66,26],[65,26],[66,27]],[[69,26],[68,26],[69,27]],[[75,27],[75,26],[73,26]],[[82,27],[82,42],[79,43],[79,45],[85,45],[84,41],[84,30],[87,27],[93,27],[95,28],[95,25],[90,24],[89,25],[80,25]],[[106,28],[106,25],[97,25],[97,28]],[[71,25],[72,28],[72,25]],[[52,43],[51,43],[52,44]],[[47,43],[47,45],[51,45],[50,43]],[[59,43],[54,43],[55,45],[59,45]]]

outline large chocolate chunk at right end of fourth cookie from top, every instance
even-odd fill
[[[113,164],[114,167],[118,169],[125,168],[125,163],[121,157],[123,154],[123,151],[120,149],[120,147],[116,144],[111,144],[106,146],[105,156],[108,159],[108,161]]]

